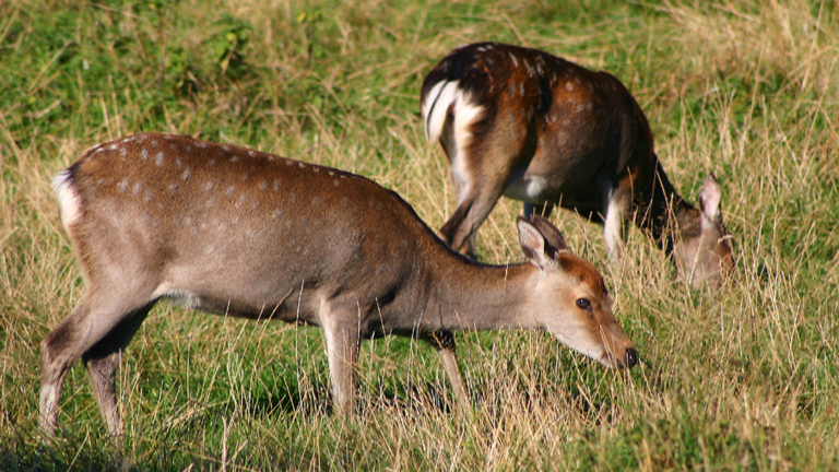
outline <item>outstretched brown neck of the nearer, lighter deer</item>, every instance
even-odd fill
[[[425,310],[428,323],[477,331],[536,327],[528,296],[539,276],[535,267],[485,266],[451,256],[429,275],[434,288]]]

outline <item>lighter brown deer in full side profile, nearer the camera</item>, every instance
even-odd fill
[[[96,146],[52,185],[88,292],[42,342],[48,435],[80,357],[108,432],[120,435],[120,354],[161,298],[319,326],[333,400],[346,413],[361,340],[374,335],[432,343],[462,403],[454,330],[544,329],[607,367],[638,359],[600,272],[541,217],[518,220],[525,263],[485,266],[369,179],[166,134]]]

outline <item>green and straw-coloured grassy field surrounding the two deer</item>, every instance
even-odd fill
[[[709,172],[736,283],[692,291],[631,231],[553,221],[604,272],[645,363],[615,373],[545,333],[460,333],[475,398],[436,353],[365,343],[358,414],[332,414],[311,328],[153,310],[119,373],[139,470],[839,470],[839,7],[688,0],[0,0],[0,470],[116,469],[81,364],[38,441],[38,343],[84,284],[49,187],[102,141],[192,134],[368,176],[432,226],[453,210],[422,79],[478,40],[618,76],[690,201]],[[488,262],[520,258],[503,201]]]

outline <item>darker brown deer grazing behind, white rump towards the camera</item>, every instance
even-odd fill
[[[713,174],[700,210],[680,197],[643,111],[613,75],[534,49],[474,44],[428,73],[421,106],[458,202],[440,233],[472,259],[477,227],[504,194],[523,201],[525,215],[559,205],[603,224],[613,261],[633,217],[694,286],[718,285],[732,270]]]

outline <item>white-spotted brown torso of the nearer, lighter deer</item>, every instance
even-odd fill
[[[434,239],[364,177],[186,137],[103,144],[56,186],[92,283],[121,278],[214,312],[305,318],[316,310],[286,296],[302,284],[304,303],[351,290],[365,304],[410,285]]]

